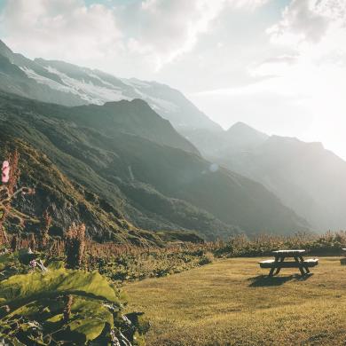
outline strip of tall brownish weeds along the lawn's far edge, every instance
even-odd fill
[[[33,235],[17,238],[17,248],[28,248]],[[35,239],[35,237],[34,237]],[[86,270],[98,270],[114,281],[167,276],[214,261],[214,258],[270,256],[273,250],[303,248],[311,256],[340,256],[346,247],[346,232],[326,232],[322,235],[296,233],[293,236],[262,234],[248,239],[245,235],[227,241],[200,244],[179,243],[165,248],[138,247],[84,240]],[[51,239],[43,249],[48,257],[66,260],[67,240]]]

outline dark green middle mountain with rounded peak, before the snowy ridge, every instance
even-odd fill
[[[144,101],[67,107],[1,92],[0,122],[0,136],[46,155],[71,184],[134,229],[195,231],[207,240],[308,229],[263,185],[178,147],[185,139]],[[166,133],[156,136],[155,129]],[[57,214],[64,212],[60,206]]]

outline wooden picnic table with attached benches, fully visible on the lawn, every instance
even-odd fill
[[[302,276],[310,272],[309,268],[318,265],[318,259],[303,259],[305,250],[278,250],[273,251],[274,259],[259,262],[261,268],[267,268],[271,271],[269,276],[279,274],[282,268],[298,268]],[[285,262],[286,258],[294,258],[294,261]]]

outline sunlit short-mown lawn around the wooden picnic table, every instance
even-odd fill
[[[258,258],[220,260],[124,287],[145,311],[148,345],[345,345],[346,266],[322,257],[312,275],[264,278]]]

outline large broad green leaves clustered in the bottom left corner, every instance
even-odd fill
[[[9,345],[143,345],[141,313],[122,315],[123,297],[97,271],[32,265],[35,255],[0,256],[0,340]],[[27,265],[31,259],[31,265]],[[35,260],[34,260],[35,261]]]

